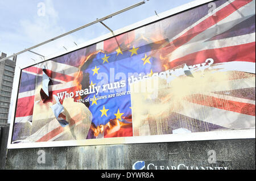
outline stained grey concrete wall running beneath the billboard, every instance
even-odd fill
[[[45,163],[39,163],[39,150],[45,153]],[[255,169],[255,139],[10,149],[6,169],[132,169],[135,161],[200,163],[208,160],[209,150],[232,169]]]

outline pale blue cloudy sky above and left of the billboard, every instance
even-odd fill
[[[10,56],[141,1],[0,0],[0,52]],[[118,30],[155,16],[155,11],[159,14],[192,0],[145,0],[145,2],[141,6],[105,20],[104,23],[112,30]],[[32,50],[43,56],[49,56],[63,51],[63,46],[69,49],[76,46],[75,43],[79,45],[106,33],[109,33],[109,30],[97,23]],[[33,64],[31,58],[36,61],[41,60],[39,56],[26,52],[17,57],[16,66]],[[15,75],[13,89],[17,87],[18,77]],[[12,98],[10,112],[13,110],[13,103]],[[9,113],[9,122],[10,115]]]

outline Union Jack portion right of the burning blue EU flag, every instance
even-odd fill
[[[203,82],[205,77],[202,76],[202,83],[195,81],[194,85],[189,87],[179,86],[184,79],[179,78],[179,84],[174,83],[174,86],[179,87],[180,92],[183,89],[191,89],[188,91],[190,94],[184,95],[179,103],[173,105],[171,103],[179,93],[176,92],[175,95],[173,89],[161,90],[159,94],[162,94],[163,100],[159,102],[155,100],[150,105],[160,106],[168,100],[170,103],[168,106],[173,107],[163,108],[157,116],[144,113],[144,117],[147,118],[142,121],[143,124],[134,128],[134,135],[170,134],[179,128],[185,128],[189,132],[255,129],[255,1],[214,1],[214,3],[216,9],[210,13],[206,12],[208,5],[204,5],[180,14],[181,22],[184,17],[187,18],[187,16],[181,17],[184,14],[195,15],[196,18],[189,19],[191,21],[188,27],[177,27],[175,34],[171,35],[159,52],[162,59],[167,62],[164,65],[167,69],[186,64],[196,73],[207,67],[204,60],[212,58],[214,64],[211,68],[226,74],[220,74],[222,77],[221,81],[218,79],[218,83],[210,82],[216,81],[214,78],[209,79],[209,82]],[[195,13],[195,10],[200,13]],[[172,22],[171,26],[175,23]],[[204,91],[205,86],[211,89]],[[193,92],[195,87],[199,87],[201,92]],[[168,95],[171,94],[170,92],[174,95]],[[138,97],[134,97],[133,104],[136,104],[135,100],[138,100]],[[147,102],[147,100],[141,101],[144,101],[142,104]],[[150,106],[147,108],[150,109]],[[163,115],[164,111],[170,112],[170,110],[170,114]],[[146,112],[142,110],[138,111],[138,114],[143,111]],[[159,116],[160,113],[162,117]],[[135,119],[133,117],[133,122]],[[165,123],[161,125],[160,122],[163,120]],[[155,130],[156,127],[161,126],[164,128],[160,131]]]

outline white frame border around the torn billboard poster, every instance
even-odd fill
[[[56,54],[52,54],[50,56],[44,57],[44,60],[38,61],[36,64],[26,65],[22,68],[19,68],[18,66],[16,66],[15,70],[18,73],[15,74],[15,77],[18,76],[19,83],[20,83],[22,70],[25,68],[28,68],[29,66],[37,65],[42,62],[51,60],[52,58],[63,56],[64,54],[71,53],[75,50],[88,47],[92,44],[100,43],[101,41],[118,36],[122,33],[132,31],[136,28],[146,26],[147,24],[154,23],[164,18],[168,18],[169,16],[178,14],[180,12],[183,12],[183,11],[186,11],[186,10],[189,10],[213,1],[216,1],[216,0],[192,1],[185,5],[176,7],[175,9],[162,12],[155,16],[151,16],[150,18],[147,18],[137,23],[123,27],[119,30],[115,30],[113,32],[107,33],[105,35],[97,37],[96,39],[86,41],[85,43],[77,45],[77,47],[73,47],[65,51],[63,50]],[[14,100],[13,101],[14,109],[11,112],[11,123],[10,123],[9,138],[7,142],[7,149],[46,148],[46,147],[59,147],[59,146],[86,146],[86,145],[142,144],[142,143],[155,143],[155,142],[230,140],[230,139],[255,138],[255,129],[240,129],[240,130],[225,130],[225,131],[212,131],[212,132],[194,132],[194,133],[184,133],[184,134],[161,134],[161,135],[151,135],[151,136],[113,137],[113,138],[98,138],[98,139],[90,139],[90,140],[67,140],[67,141],[29,142],[29,143],[24,142],[22,144],[11,144],[11,140],[13,137],[15,114],[16,114],[16,103],[18,101],[18,90],[19,90],[19,87],[17,89],[13,89],[15,96],[11,98],[12,100]]]

